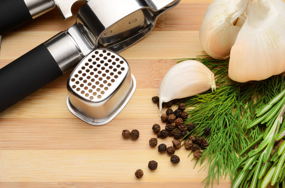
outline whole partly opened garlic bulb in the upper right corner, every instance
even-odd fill
[[[229,60],[237,82],[264,80],[285,71],[285,3],[282,0],[216,0],[200,28],[214,58]]]

